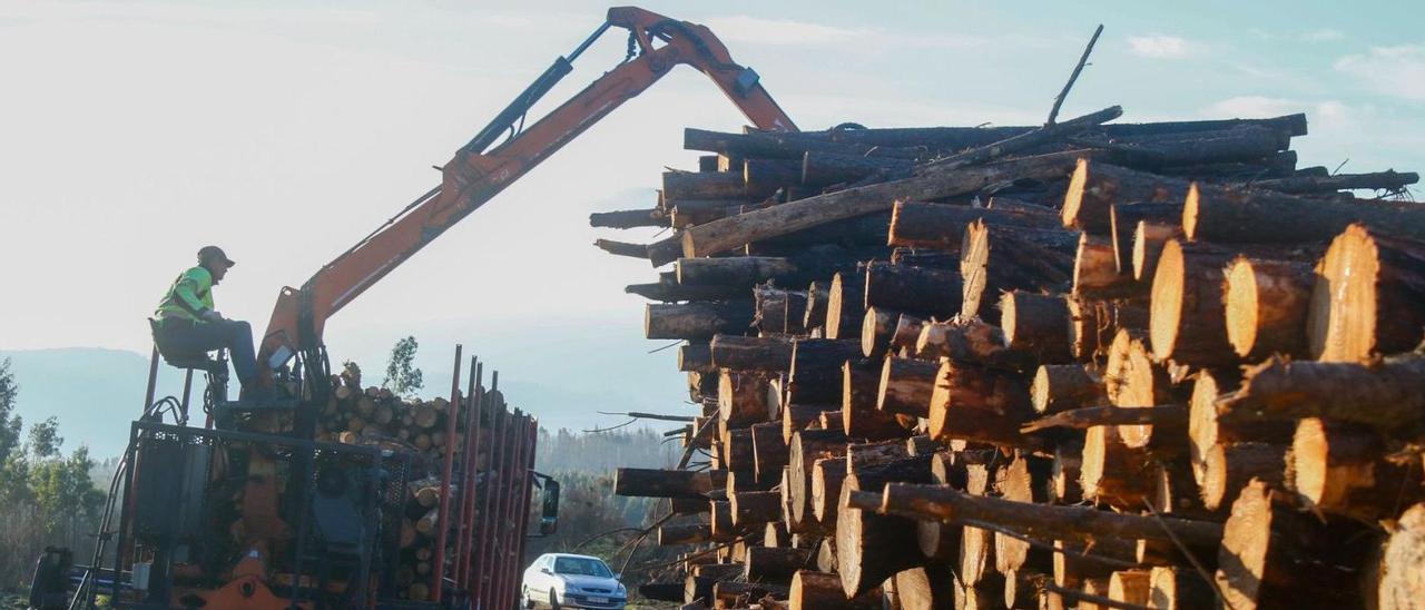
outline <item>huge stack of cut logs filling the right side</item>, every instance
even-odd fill
[[[1416,174],[1301,114],[687,130],[648,339],[697,405],[685,607],[1425,607]],[[1369,192],[1374,191],[1374,192]],[[671,265],[671,267],[665,267]]]

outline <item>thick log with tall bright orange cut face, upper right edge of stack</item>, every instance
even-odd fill
[[[1351,225],[1317,267],[1307,325],[1317,359],[1359,362],[1412,351],[1425,338],[1425,244],[1384,232]]]

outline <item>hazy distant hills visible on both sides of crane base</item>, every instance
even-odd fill
[[[420,395],[449,393],[452,338],[463,338],[470,348],[466,353],[479,353],[492,369],[500,371],[500,389],[510,405],[537,416],[540,426],[556,435],[560,429],[577,433],[627,420],[598,415],[598,410],[688,412],[685,383],[673,366],[675,351],[650,353],[640,325],[641,318],[617,324],[539,321],[415,328],[413,334],[422,339],[416,363],[426,378]],[[393,339],[382,336],[379,343],[365,349],[345,345],[332,352],[333,366],[343,358],[356,358],[366,371],[365,383],[378,385],[388,341]],[[128,425],[144,398],[147,353],[57,348],[0,351],[3,358],[11,359],[20,385],[19,413],[27,423],[57,416],[66,450],[86,443],[98,459],[124,450]],[[490,371],[486,372],[487,383]],[[195,385],[194,400],[200,400],[201,376]],[[161,366],[158,395],[175,395],[181,389],[180,372]],[[235,395],[237,389],[234,381],[231,392]],[[195,418],[201,418],[201,412]],[[667,422],[648,425],[656,430],[677,428]]]

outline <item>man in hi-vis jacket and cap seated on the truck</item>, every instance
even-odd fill
[[[228,349],[232,369],[242,383],[242,402],[261,402],[269,391],[258,382],[252,325],[227,319],[212,306],[212,286],[222,282],[232,259],[215,245],[198,251],[198,265],[184,271],[158,304],[158,332],[154,341],[164,355],[201,355]]]

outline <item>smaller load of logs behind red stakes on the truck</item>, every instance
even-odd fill
[[[473,607],[513,607],[539,423],[504,402],[497,371],[484,386],[484,365],[475,358],[462,391],[459,346],[455,358],[450,398],[430,400],[363,388],[361,368],[348,362],[332,376],[316,438],[415,455],[395,526],[400,553],[376,570],[393,579],[398,599],[440,601],[439,583],[447,581]]]

